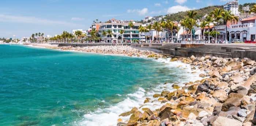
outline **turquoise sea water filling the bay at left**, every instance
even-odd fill
[[[92,119],[85,115],[118,105],[139,87],[150,90],[186,78],[178,76],[178,68],[165,65],[143,58],[0,45],[0,126],[89,126]]]

